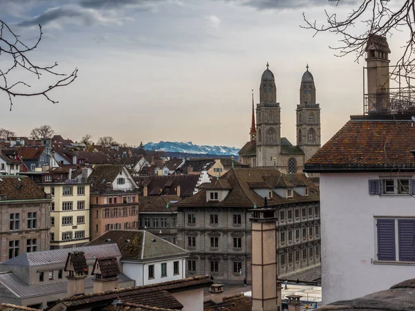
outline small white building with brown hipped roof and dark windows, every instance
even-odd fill
[[[111,230],[87,245],[117,243],[122,272],[136,286],[185,279],[190,252],[145,230]]]

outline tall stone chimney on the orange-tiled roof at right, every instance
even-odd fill
[[[369,35],[366,45],[367,112],[389,111],[389,45],[385,37]]]

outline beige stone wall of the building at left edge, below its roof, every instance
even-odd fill
[[[37,213],[36,228],[28,228],[28,213]],[[10,214],[19,214],[18,230],[10,230]],[[9,259],[10,241],[19,241],[19,254],[28,251],[28,239],[35,238],[37,251],[49,249],[50,199],[0,201],[0,261]]]

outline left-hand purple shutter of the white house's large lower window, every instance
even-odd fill
[[[378,219],[378,260],[395,261],[395,220]]]

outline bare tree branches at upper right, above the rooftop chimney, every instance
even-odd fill
[[[344,0],[328,0],[338,4]],[[350,53],[356,54],[356,62],[365,55],[365,47],[370,35],[382,37],[391,36],[394,32],[407,33],[407,41],[402,44],[404,50],[396,62],[393,73],[403,70],[403,73],[414,73],[415,70],[415,0],[403,0],[402,6],[394,6],[389,0],[362,0],[358,8],[354,8],[343,20],[338,20],[335,13],[326,13],[326,24],[319,25],[317,21],[309,21],[303,13],[306,26],[302,28],[314,30],[314,36],[319,32],[333,32],[340,35],[340,46],[332,47],[336,56]],[[363,32],[356,25],[365,26]]]

